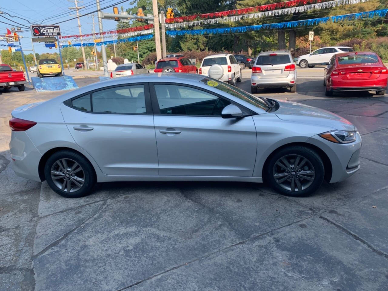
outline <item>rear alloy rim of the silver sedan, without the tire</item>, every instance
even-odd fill
[[[59,159],[51,167],[51,179],[64,192],[75,192],[85,183],[85,173],[76,161]]]

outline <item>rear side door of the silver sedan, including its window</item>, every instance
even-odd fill
[[[106,175],[158,175],[147,83],[106,87],[69,99],[61,111],[76,144]]]

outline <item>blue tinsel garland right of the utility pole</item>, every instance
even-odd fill
[[[203,34],[225,34],[225,33],[244,33],[248,31],[258,31],[262,29],[284,29],[284,28],[294,28],[297,26],[313,26],[320,23],[326,23],[329,19],[333,22],[352,20],[359,18],[373,18],[375,16],[385,16],[388,13],[388,9],[373,10],[367,12],[359,12],[352,14],[344,14],[337,16],[305,19],[298,21],[287,21],[281,23],[268,23],[268,24],[259,24],[259,25],[250,25],[250,26],[236,26],[236,27],[227,27],[227,28],[210,28],[210,29],[193,29],[193,30],[167,30],[166,34],[171,36],[179,35],[203,35]]]

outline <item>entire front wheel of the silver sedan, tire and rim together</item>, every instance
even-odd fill
[[[322,184],[325,169],[320,156],[308,147],[294,145],[272,154],[266,163],[265,181],[287,196],[307,196]]]

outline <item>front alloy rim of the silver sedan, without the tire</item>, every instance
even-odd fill
[[[280,187],[297,192],[310,187],[315,179],[315,170],[307,158],[290,154],[277,160],[272,175]]]

